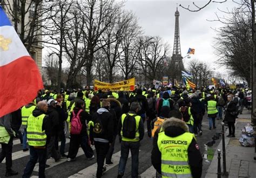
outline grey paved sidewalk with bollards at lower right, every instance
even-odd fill
[[[244,109],[244,114],[240,114],[235,124],[235,138],[227,138],[228,129],[225,126],[225,145],[226,145],[226,168],[229,173],[228,177],[256,177],[256,161],[253,157],[254,147],[242,147],[239,143],[241,136],[241,129],[247,124],[251,123],[251,112]],[[222,155],[222,141],[219,143],[218,149],[221,150],[221,172],[223,172],[223,155]],[[205,177],[217,177],[218,170],[218,153],[214,153],[211,165],[207,170]],[[204,160],[205,161],[205,160]]]

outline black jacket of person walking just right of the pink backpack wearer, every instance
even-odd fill
[[[90,128],[90,140],[99,141],[99,142],[113,142],[113,115],[105,107],[101,107],[97,110],[96,113],[92,115],[92,122],[95,125],[97,119],[100,119],[103,132],[96,134],[93,132],[93,127]]]

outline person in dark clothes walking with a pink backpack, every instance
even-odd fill
[[[79,146],[84,151],[84,154],[88,160],[94,158],[93,150],[89,145],[89,136],[87,134],[87,123],[91,120],[91,115],[84,111],[85,102],[80,99],[77,100],[76,106],[71,113],[71,132],[70,132],[70,146],[69,146],[69,154],[68,154],[68,162],[75,161],[76,155],[78,153]],[[72,132],[72,120],[78,117],[80,124],[82,124],[82,128],[80,133]]]

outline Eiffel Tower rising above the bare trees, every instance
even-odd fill
[[[181,80],[181,71],[184,71],[184,64],[182,61],[183,57],[181,56],[180,50],[180,33],[179,33],[179,11],[178,7],[175,12],[175,31],[174,31],[174,44],[173,44],[173,53],[171,60],[171,69],[172,69],[172,81],[177,79]]]

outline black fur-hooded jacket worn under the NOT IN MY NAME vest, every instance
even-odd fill
[[[170,137],[179,136],[185,132],[188,132],[188,127],[184,121],[179,119],[168,119],[164,121],[163,130],[165,135]],[[159,129],[158,129],[159,132]],[[157,145],[158,133],[155,133],[153,139],[153,149],[151,152],[151,162],[153,167],[157,170],[158,173],[161,173],[161,152]],[[192,176],[201,177],[202,167],[203,167],[203,158],[201,156],[197,141],[193,138],[190,146],[188,147],[188,163],[191,168]]]

